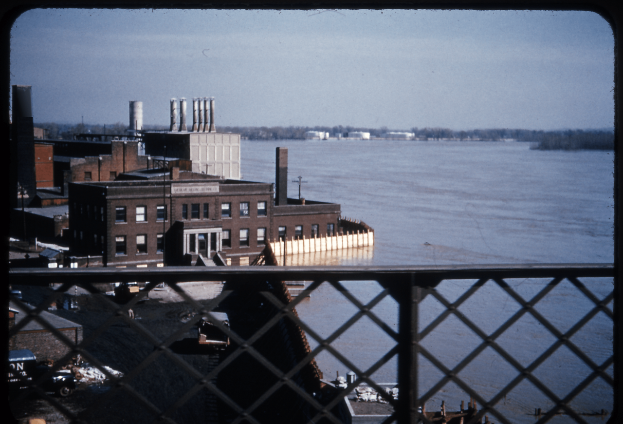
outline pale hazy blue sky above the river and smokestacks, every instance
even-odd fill
[[[581,11],[34,9],[11,31],[34,122],[614,127],[614,36]],[[189,119],[191,122],[192,120]]]

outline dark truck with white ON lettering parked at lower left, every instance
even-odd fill
[[[50,369],[46,365],[37,365],[37,358],[28,349],[9,350],[9,393],[29,388],[31,383],[44,375]],[[76,388],[73,375],[67,372],[54,372],[39,385],[45,392],[54,392],[59,396],[67,397]]]

